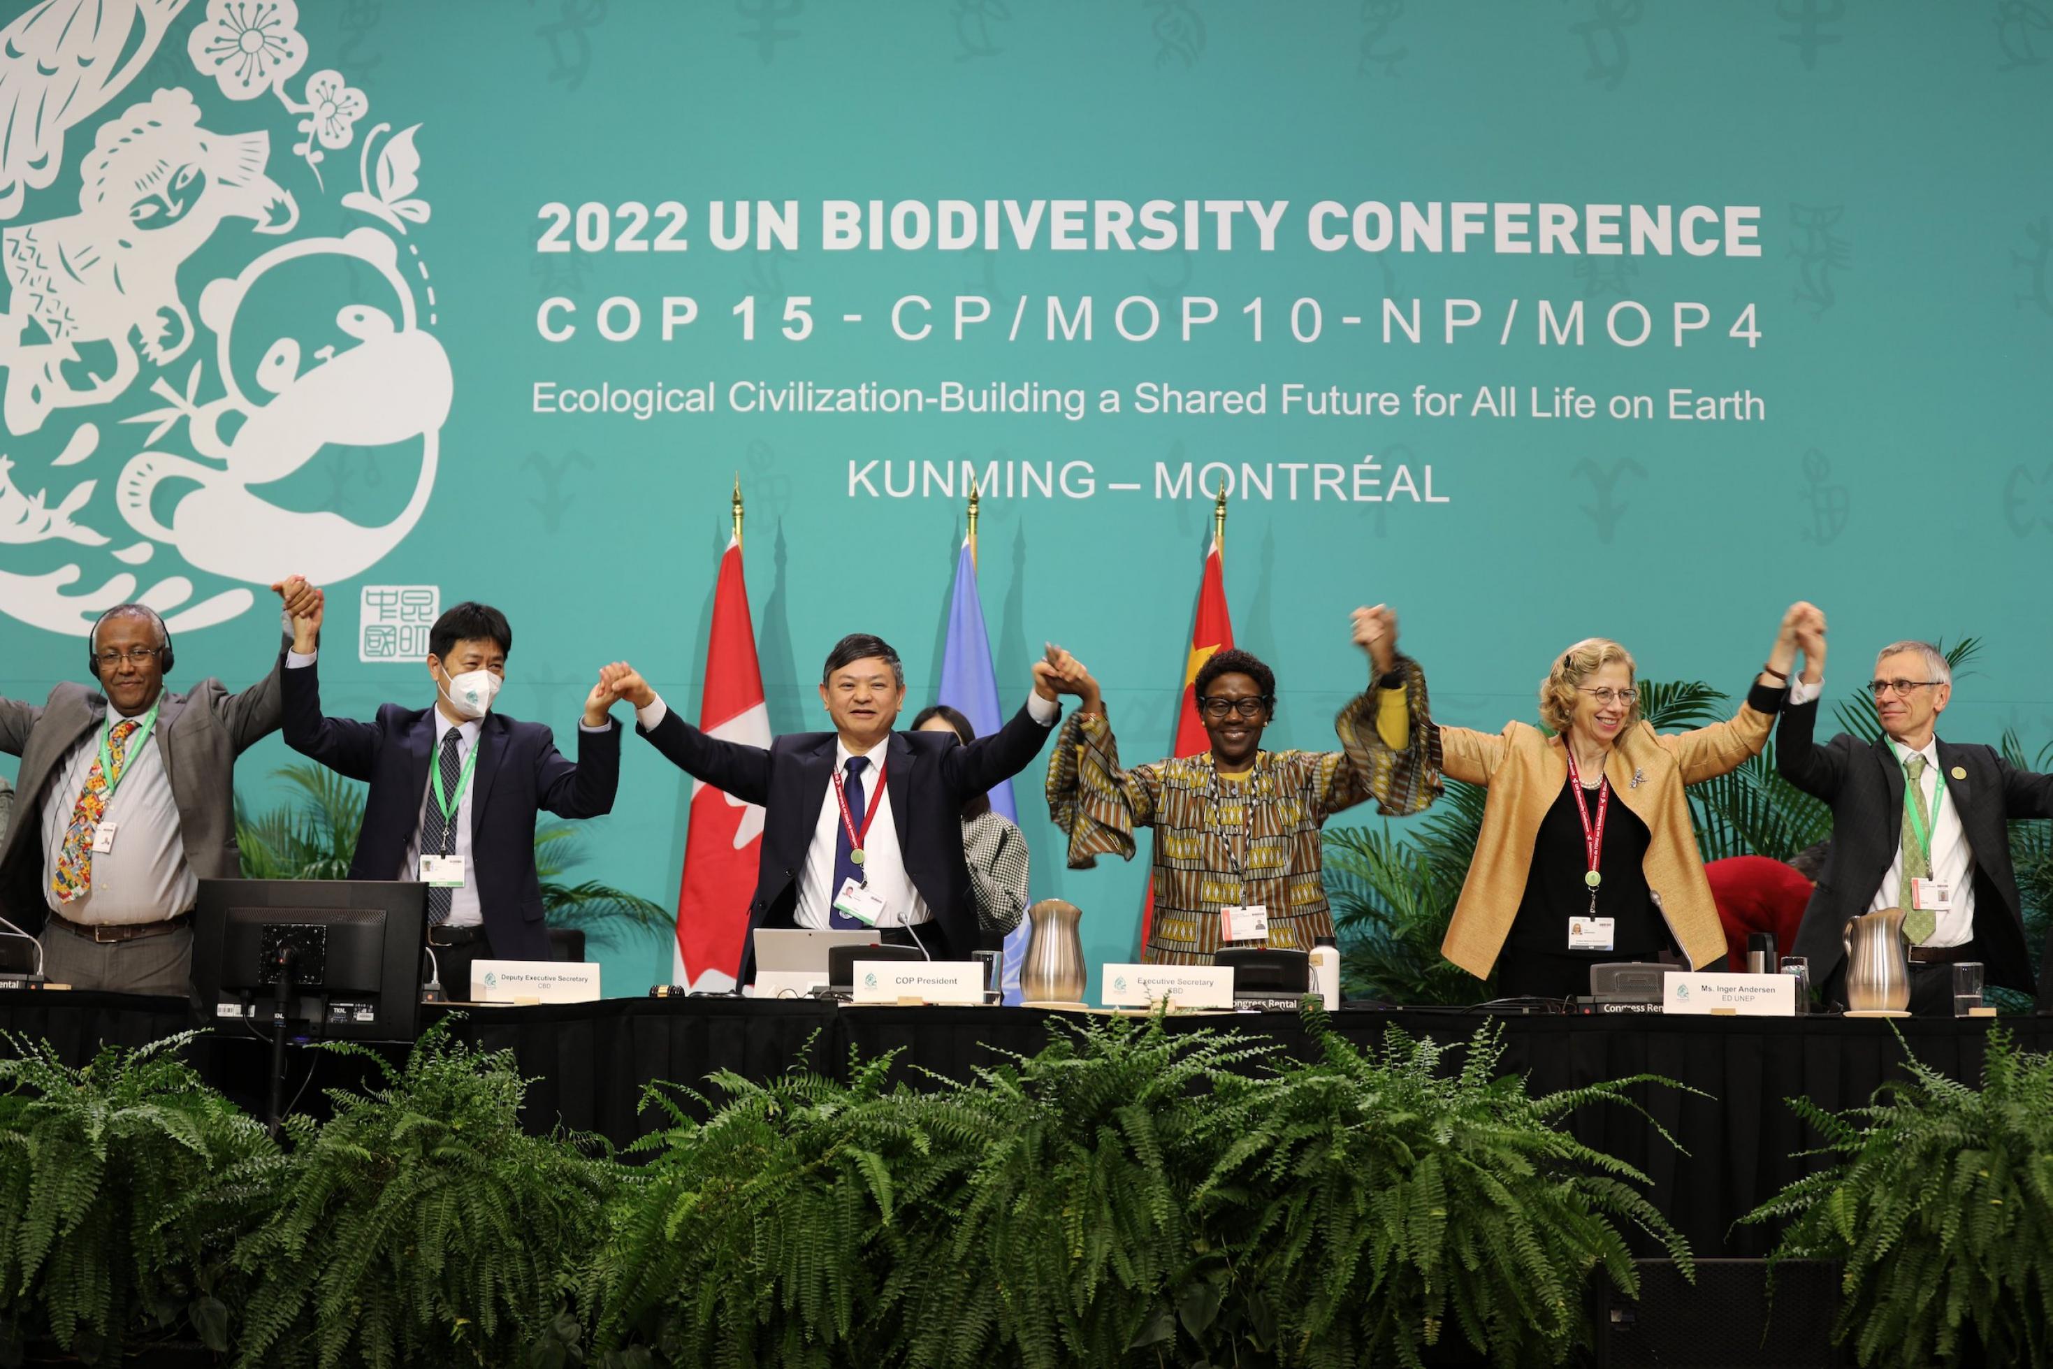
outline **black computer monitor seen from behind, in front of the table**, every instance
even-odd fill
[[[193,1010],[269,1026],[281,952],[296,1034],[413,1041],[421,1016],[427,885],[203,878],[193,909]]]

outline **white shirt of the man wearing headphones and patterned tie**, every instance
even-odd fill
[[[119,720],[119,718],[117,718]],[[43,800],[43,901],[66,922],[86,926],[131,926],[164,922],[193,907],[199,878],[185,860],[185,833],[179,829],[179,800],[170,792],[170,774],[158,751],[156,729],[142,747],[129,739],[121,761],[121,784],[107,800],[103,823],[113,823],[115,846],[94,852],[92,887],[70,903],[62,903],[49,881],[57,874],[64,854],[64,833],[72,825],[72,809],[86,788],[86,776],[101,757],[101,729],[57,764]]]

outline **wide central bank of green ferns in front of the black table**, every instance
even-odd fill
[[[1505,1365],[1587,1344],[1616,1219],[1690,1252],[1630,1168],[1558,1121],[1636,1080],[1527,1098],[1497,1039],[1392,1032],[1320,1057],[1160,1018],[1057,1030],[967,1084],[792,1071],[671,1096],[593,1264],[599,1363]],[[698,1104],[704,1098],[692,1096]],[[1628,1104],[1630,1106],[1630,1104]]]

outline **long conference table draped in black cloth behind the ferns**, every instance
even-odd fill
[[[862,1059],[895,1051],[893,1075],[912,1088],[930,1075],[965,1080],[1002,1053],[1029,1055],[1047,1041],[1055,1018],[1084,1014],[1039,1008],[873,1008],[801,1000],[612,998],[593,1004],[524,1008],[427,1008],[429,1020],[454,1018],[452,1032],[489,1049],[509,1049],[532,1080],[524,1123],[530,1129],[593,1131],[614,1145],[663,1127],[643,1108],[653,1082],[700,1090],[719,1069],[766,1080],[792,1065],[846,1075],[850,1051]],[[1657,1073],[1686,1088],[1642,1084],[1634,1098],[1688,1153],[1663,1141],[1640,1114],[1587,1106],[1568,1119],[1577,1139],[1636,1166],[1651,1197],[1700,1256],[1757,1256],[1764,1227],[1733,1221],[1782,1184],[1823,1164],[1803,1158],[1819,1137],[1786,1098],[1823,1108],[1858,1106],[1887,1080],[1901,1080],[1905,1047],[1934,1069],[1977,1082],[1991,1026],[2024,1049],[2053,1049],[2053,1018],[1725,1018],[1725,1016],[1501,1016],[1474,1010],[1339,1012],[1330,1028],[1373,1045],[1392,1026],[1443,1043],[1480,1026],[1503,1028],[1501,1067],[1523,1073],[1534,1094],[1550,1094],[1634,1073]],[[121,993],[0,993],[0,1030],[47,1041],[68,1063],[84,1063],[103,1045],[144,1045],[193,1026],[185,1000]],[[1236,1030],[1310,1057],[1304,1024],[1289,1012],[1178,1016],[1168,1030]],[[0,1047],[6,1049],[6,1047]],[[404,1047],[388,1047],[392,1059]],[[209,1030],[193,1047],[201,1073],[261,1112],[267,1045],[248,1032]],[[1458,1063],[1460,1057],[1454,1057]],[[326,1088],[365,1082],[365,1061],[300,1051],[289,1061],[302,1106],[322,1110]],[[1692,1092],[1694,1090],[1694,1092]],[[698,1104],[688,1110],[702,1112]]]

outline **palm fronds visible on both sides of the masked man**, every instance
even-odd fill
[[[250,817],[236,798],[242,878],[349,878],[365,788],[324,766],[285,766],[271,774],[298,790],[298,803]],[[599,946],[616,942],[622,932],[669,932],[671,913],[659,903],[599,881],[565,883],[563,874],[583,858],[571,825],[536,825],[534,862],[548,926],[575,928]]]

